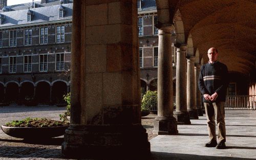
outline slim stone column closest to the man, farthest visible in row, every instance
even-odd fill
[[[196,110],[197,110],[198,116],[203,116],[201,92],[198,87],[198,79],[199,79],[200,69],[201,69],[201,64],[196,64],[195,65]]]

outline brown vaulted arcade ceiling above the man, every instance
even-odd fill
[[[174,20],[174,24],[182,24],[177,25],[176,28],[183,27],[177,30],[179,36],[176,38],[183,37],[184,40],[178,39],[178,42],[187,43],[193,40],[194,53],[198,49],[200,59],[203,58],[206,62],[207,50],[216,47],[219,50],[219,60],[227,64],[230,72],[243,74],[255,72],[255,0],[156,0],[156,2],[165,4],[165,10],[169,6],[169,20]],[[176,6],[170,7],[171,5]],[[160,6],[157,4],[157,8]],[[158,16],[161,19],[161,14]]]

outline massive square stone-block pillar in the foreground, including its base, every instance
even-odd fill
[[[150,155],[141,125],[136,2],[74,1],[73,7],[71,124],[63,156]]]

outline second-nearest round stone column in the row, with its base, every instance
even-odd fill
[[[186,46],[177,47],[176,53],[176,111],[174,117],[179,124],[191,124],[186,102]]]

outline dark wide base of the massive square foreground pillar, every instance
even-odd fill
[[[140,159],[150,157],[142,125],[70,125],[61,145],[65,158]]]

